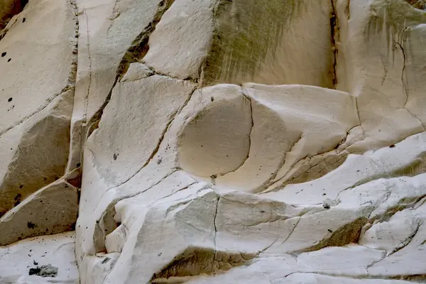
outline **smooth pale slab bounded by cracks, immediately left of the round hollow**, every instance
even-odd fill
[[[86,144],[104,180],[117,186],[151,161],[194,89],[190,82],[158,75],[116,85],[99,129]]]

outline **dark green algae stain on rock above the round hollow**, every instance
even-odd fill
[[[306,9],[306,0],[219,0],[212,48],[203,67],[204,84],[254,77],[274,55],[283,33]]]

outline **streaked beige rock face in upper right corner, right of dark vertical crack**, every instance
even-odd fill
[[[426,11],[401,0],[364,5],[341,0],[337,16],[337,88],[356,97],[365,134],[354,151],[381,148],[425,131],[425,71],[420,67],[425,50],[420,46]]]

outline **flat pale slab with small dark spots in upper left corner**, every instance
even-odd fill
[[[6,53],[0,57],[0,77],[7,78],[0,82],[0,135],[65,92],[75,72],[72,6],[64,1],[31,1],[23,16],[26,21],[16,22],[0,40],[0,53]]]

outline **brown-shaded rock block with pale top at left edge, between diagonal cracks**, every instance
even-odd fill
[[[0,136],[1,213],[64,174],[72,94],[72,89],[60,94],[48,107]]]

